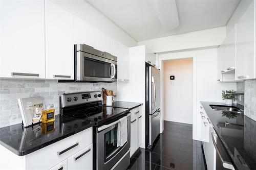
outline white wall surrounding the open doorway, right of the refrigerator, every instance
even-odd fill
[[[195,50],[177,53],[159,54],[159,62],[166,60],[193,58],[193,139],[200,139],[200,123],[197,114],[200,101],[223,102],[221,90],[237,89],[235,82],[217,82],[217,48]],[[160,70],[163,70],[160,64]],[[163,74],[161,71],[161,87],[163,87]],[[161,90],[161,110],[163,109],[163,90]]]

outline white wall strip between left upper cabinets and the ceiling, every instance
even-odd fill
[[[97,11],[88,2],[84,0],[67,0],[67,1],[53,1],[59,7],[71,12],[74,16],[79,17],[84,22],[95,27],[101,32],[110,37],[122,42],[126,46],[135,46],[137,41],[130,35],[125,33],[122,29],[114,24],[111,20],[106,18],[102,13]]]

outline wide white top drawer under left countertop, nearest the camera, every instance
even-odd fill
[[[25,156],[26,169],[49,169],[92,143],[92,128],[74,134]],[[44,160],[40,166],[38,160]],[[35,163],[33,163],[35,162]]]

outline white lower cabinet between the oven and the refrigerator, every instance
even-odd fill
[[[131,152],[130,157],[139,149],[142,143],[142,114],[141,107],[131,110]]]

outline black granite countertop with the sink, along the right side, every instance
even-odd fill
[[[218,137],[236,169],[256,168],[256,122],[243,113],[224,113],[209,105],[225,103],[201,102]],[[233,104],[243,110],[243,106]],[[224,122],[238,124],[224,126]]]

